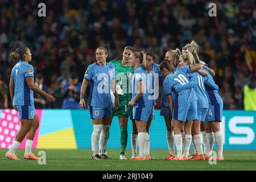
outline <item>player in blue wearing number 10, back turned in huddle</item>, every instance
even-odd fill
[[[172,121],[174,122],[175,131],[175,145],[177,148],[177,155],[171,160],[187,160],[188,151],[191,145],[191,127],[193,120],[197,119],[197,96],[193,87],[196,86],[195,81],[190,81],[187,76],[188,72],[193,72],[201,69],[200,64],[192,67],[177,67],[164,60],[160,64],[160,71],[165,78],[163,82],[164,92],[167,94],[168,104],[173,115]],[[176,92],[177,86],[187,85],[187,89],[181,92]],[[184,156],[182,155],[182,137],[181,129],[185,130],[184,139]]]

